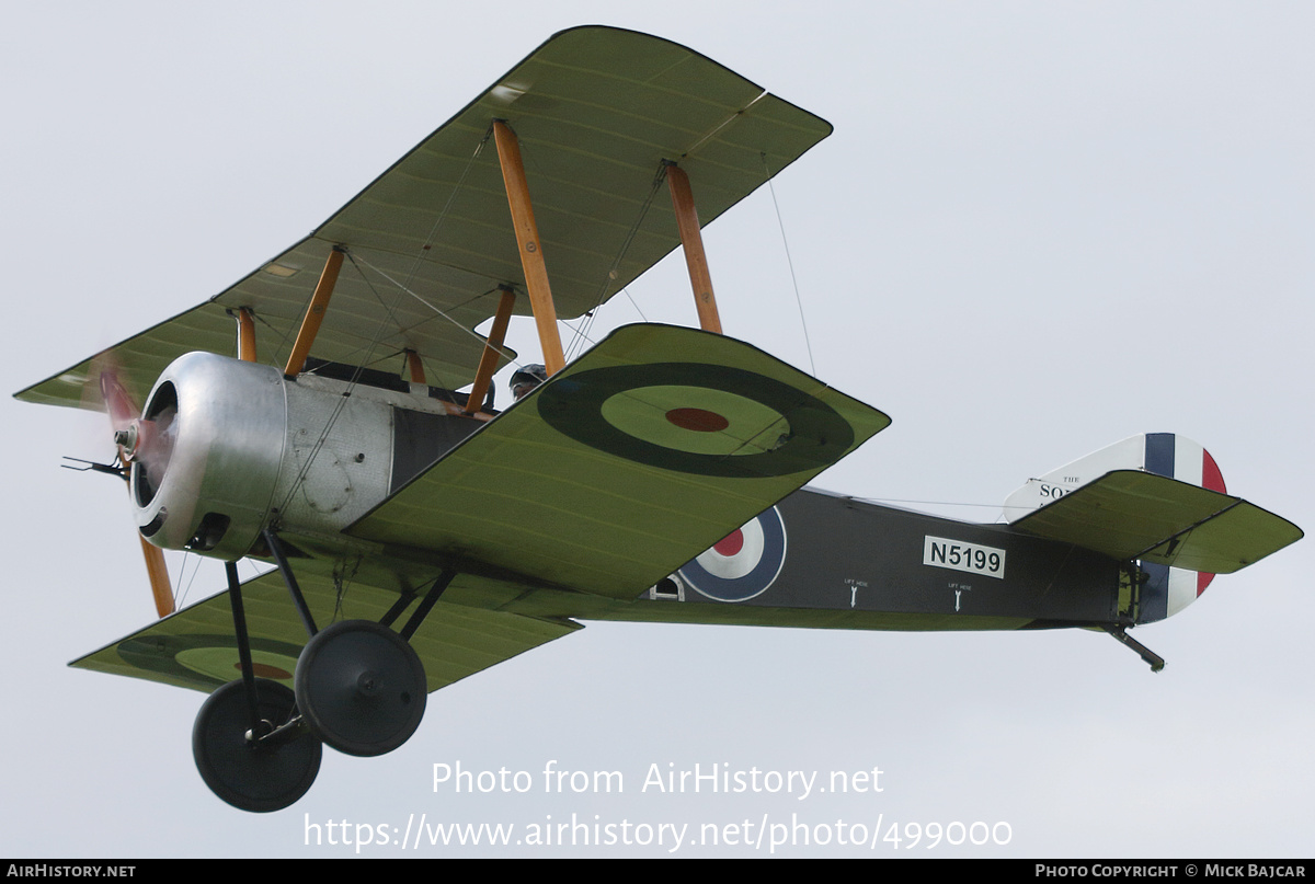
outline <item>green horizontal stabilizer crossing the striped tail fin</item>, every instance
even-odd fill
[[[1302,538],[1286,518],[1206,488],[1137,470],[1109,472],[1013,529],[1111,555],[1231,574]]]

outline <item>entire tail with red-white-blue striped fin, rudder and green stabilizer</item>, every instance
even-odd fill
[[[1176,481],[1135,480],[1135,474]],[[1185,485],[1214,495],[1187,493]],[[1170,562],[1233,571],[1302,537],[1291,522],[1228,497],[1210,453],[1173,433],[1135,435],[1031,479],[1006,499],[1005,517],[1027,533],[1137,559],[1144,576],[1136,622],[1182,610],[1214,579]]]

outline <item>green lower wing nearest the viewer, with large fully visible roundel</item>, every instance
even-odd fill
[[[625,326],[347,531],[633,599],[889,422],[740,341]]]

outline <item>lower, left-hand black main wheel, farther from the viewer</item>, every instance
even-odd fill
[[[296,704],[277,681],[256,679],[256,709],[274,727]],[[310,735],[256,743],[247,741],[251,709],[241,679],[229,681],[201,704],[192,727],[192,755],[201,779],[234,808],[252,813],[281,810],[306,793],[320,772],[323,747]]]

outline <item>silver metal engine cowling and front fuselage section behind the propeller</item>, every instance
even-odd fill
[[[155,546],[222,559],[246,555],[271,522],[342,545],[345,528],[480,426],[393,381],[292,381],[271,366],[180,356],[116,437],[138,528]]]

